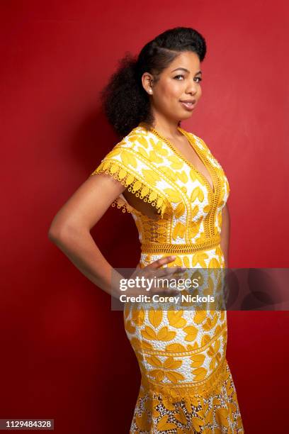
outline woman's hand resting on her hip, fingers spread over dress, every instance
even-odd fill
[[[147,280],[157,282],[157,279],[164,278],[170,280],[171,278],[174,278],[176,282],[178,282],[181,277],[179,277],[179,273],[184,272],[186,268],[182,267],[164,267],[163,265],[169,264],[170,262],[174,262],[176,260],[176,256],[167,256],[162,257],[159,260],[155,260],[149,265],[146,265],[143,268],[140,268],[138,265],[135,269],[135,272],[131,274],[129,279],[136,279],[137,277],[139,279],[142,279],[142,282],[145,282],[145,286],[141,287],[133,287],[128,288],[126,291],[126,295],[128,296],[137,296],[140,294],[145,294],[148,296],[153,296],[154,294],[159,295],[165,295],[165,296],[172,296],[179,294],[179,290],[176,288],[170,288],[169,286],[158,286],[152,284],[152,286],[147,286]],[[156,279],[156,281],[154,281]],[[147,291],[147,289],[149,289]]]

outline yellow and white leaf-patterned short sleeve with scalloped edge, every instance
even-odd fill
[[[111,152],[103,157],[100,165],[90,176],[106,173],[117,179],[135,196],[157,208],[161,218],[171,207],[169,200],[162,191],[162,179],[151,162],[138,152],[133,141],[122,140]],[[122,197],[118,196],[111,206],[117,205],[122,211],[132,212],[134,208]]]

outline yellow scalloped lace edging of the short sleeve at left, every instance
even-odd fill
[[[106,160],[101,162],[101,164],[91,173],[90,176],[98,173],[106,173],[111,175],[114,179],[117,179],[121,184],[125,187],[128,187],[128,191],[131,191],[135,196],[140,197],[144,202],[149,202],[152,206],[157,208],[157,212],[160,213],[161,218],[164,218],[164,214],[166,213],[166,209],[171,205],[169,204],[168,199],[165,196],[156,191],[156,189],[152,189],[149,185],[140,181],[134,174],[128,172],[128,170],[124,169],[118,162],[114,160]],[[134,208],[127,204],[123,199],[117,198],[113,201],[111,206],[117,205],[118,208],[123,208],[122,211],[131,213]]]

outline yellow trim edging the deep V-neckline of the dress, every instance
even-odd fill
[[[198,156],[198,158],[200,159],[201,162],[203,162],[203,165],[205,167],[205,169],[208,170],[208,173],[210,174],[210,178],[212,181],[212,187],[210,185],[210,182],[208,181],[208,178],[205,177],[205,175],[200,172],[195,165],[193,165],[193,163],[191,161],[189,161],[182,153],[179,149],[176,148],[176,146],[171,143],[170,140],[168,140],[167,138],[164,138],[155,128],[149,127],[149,130],[152,131],[152,133],[154,133],[155,135],[157,135],[157,137],[159,137],[159,139],[163,140],[167,145],[169,145],[169,147],[171,148],[171,150],[174,151],[174,153],[176,155],[178,155],[179,158],[181,158],[181,160],[183,160],[189,167],[191,167],[205,182],[205,185],[208,187],[208,190],[210,191],[210,193],[215,196],[216,191],[217,191],[217,186],[215,184],[215,172],[213,172],[212,167],[210,166],[210,162],[208,162],[208,158],[205,157],[204,153],[200,150],[200,149],[196,149],[197,147],[194,146],[193,140],[191,140],[191,137],[188,135],[188,133],[186,132],[186,130],[183,130],[183,128],[181,127],[177,127],[177,129],[187,138],[189,145],[191,145],[191,147],[193,148],[193,150],[196,152],[196,155]]]

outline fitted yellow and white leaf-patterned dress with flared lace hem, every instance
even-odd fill
[[[227,177],[204,141],[179,127],[208,169],[208,179],[154,128],[140,123],[91,174],[106,172],[155,206],[149,218],[121,194],[112,206],[132,213],[139,267],[176,255],[169,267],[224,268],[220,247]],[[125,331],[142,381],[130,434],[244,433],[226,360],[227,312],[144,310],[127,304]]]

